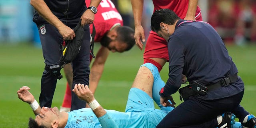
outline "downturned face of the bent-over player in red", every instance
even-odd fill
[[[109,43],[108,49],[111,52],[124,52],[127,48],[127,44],[113,40]]]

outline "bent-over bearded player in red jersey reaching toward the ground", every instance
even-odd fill
[[[89,4],[91,0],[85,0]],[[104,66],[110,51],[124,52],[134,46],[134,30],[129,26],[123,26],[123,19],[110,0],[102,0],[99,4],[98,12],[95,14],[95,42],[100,42],[101,46],[96,54],[96,58],[90,68],[89,88],[94,93],[104,71]],[[92,24],[90,25],[92,33]],[[90,63],[92,56],[90,56]],[[66,92],[60,111],[69,112],[71,108],[71,90],[72,88],[72,67],[66,64],[64,73],[67,78]]]

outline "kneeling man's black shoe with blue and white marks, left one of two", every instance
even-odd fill
[[[218,125],[218,128],[233,128],[236,123],[236,116],[231,112],[225,112],[222,114],[222,122]]]

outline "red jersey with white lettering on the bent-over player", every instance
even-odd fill
[[[86,5],[90,5],[91,0],[85,0]],[[123,19],[111,0],[102,0],[98,6],[98,12],[94,17],[94,26],[96,30],[95,42],[100,42],[104,34],[116,24],[123,26]],[[92,24],[90,25],[92,33]]]

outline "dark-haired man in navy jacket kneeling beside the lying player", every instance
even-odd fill
[[[182,74],[194,92],[157,128],[230,128],[232,124],[215,119],[227,111],[234,113],[244,128],[256,128],[256,118],[240,106],[244,83],[237,76],[224,42],[210,24],[181,20],[172,10],[161,9],[152,15],[151,29],[168,42],[169,78],[159,92],[161,104],[174,106],[168,100],[180,88]],[[230,120],[231,116],[224,115],[223,119]]]

